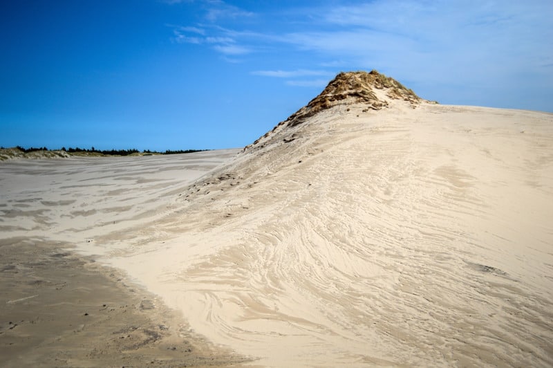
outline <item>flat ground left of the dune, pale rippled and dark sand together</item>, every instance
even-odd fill
[[[94,234],[149,218],[165,204],[156,196],[171,196],[174,187],[234,153],[0,163],[0,366],[227,367],[247,361],[192,333],[182,313],[124,272],[75,252],[82,243],[87,246],[80,249],[92,253]]]

